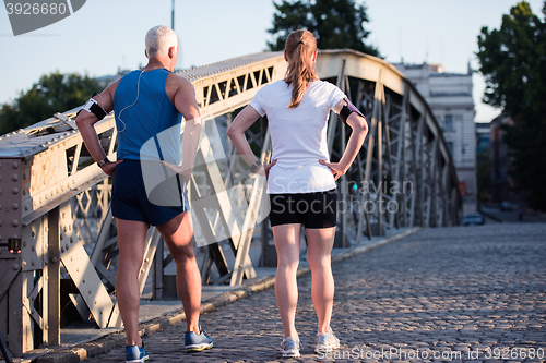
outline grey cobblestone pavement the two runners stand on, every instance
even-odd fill
[[[316,315],[305,276],[297,315],[304,349],[294,361],[546,361],[546,225],[425,229],[333,269],[332,328],[342,349],[313,353]],[[185,325],[177,325],[147,338],[151,360],[286,361],[276,350],[282,327],[273,289],[201,323],[214,339],[212,350],[183,354]],[[123,358],[116,348],[88,362]]]

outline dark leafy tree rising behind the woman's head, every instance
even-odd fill
[[[293,31],[308,29],[317,37],[320,49],[351,48],[379,57],[379,51],[364,40],[368,15],[364,4],[354,0],[281,0],[273,2],[273,27],[268,32],[276,39],[268,41],[270,50],[283,50],[286,37]]]

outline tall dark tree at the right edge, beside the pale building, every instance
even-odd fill
[[[546,15],[546,1],[543,13]],[[499,29],[478,35],[484,101],[502,108],[513,125],[503,125],[510,149],[509,174],[529,193],[529,204],[546,210],[546,24],[526,1],[502,16]]]

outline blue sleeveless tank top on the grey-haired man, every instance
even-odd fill
[[[182,116],[165,90],[169,73],[165,69],[133,71],[119,82],[114,96],[118,160],[180,164]]]

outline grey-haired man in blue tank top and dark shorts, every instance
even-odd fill
[[[151,201],[145,185],[147,165],[157,168],[162,160],[179,162],[181,116],[186,120],[182,140],[182,168],[186,172],[182,177],[188,181],[201,130],[195,92],[190,82],[171,73],[178,59],[178,38],[173,29],[153,27],[146,34],[145,45],[146,66],[127,74],[94,96],[75,121],[95,161],[106,174],[114,177],[111,208],[117,219],[119,246],[116,292],[127,335],[127,362],[149,359],[138,330],[138,276],[150,225],[156,226],[176,262],[177,290],[187,320],[185,351],[200,351],[213,346],[199,326],[201,276],[191,243],[193,230],[185,185],[180,185],[183,183],[176,176],[178,195],[168,206]],[[93,126],[112,110],[119,140],[118,161],[115,162],[107,159]],[[158,137],[173,130],[178,134],[170,135],[170,145],[165,142],[168,137],[162,137],[159,143]],[[156,147],[144,147],[151,145],[150,141],[155,141]]]

